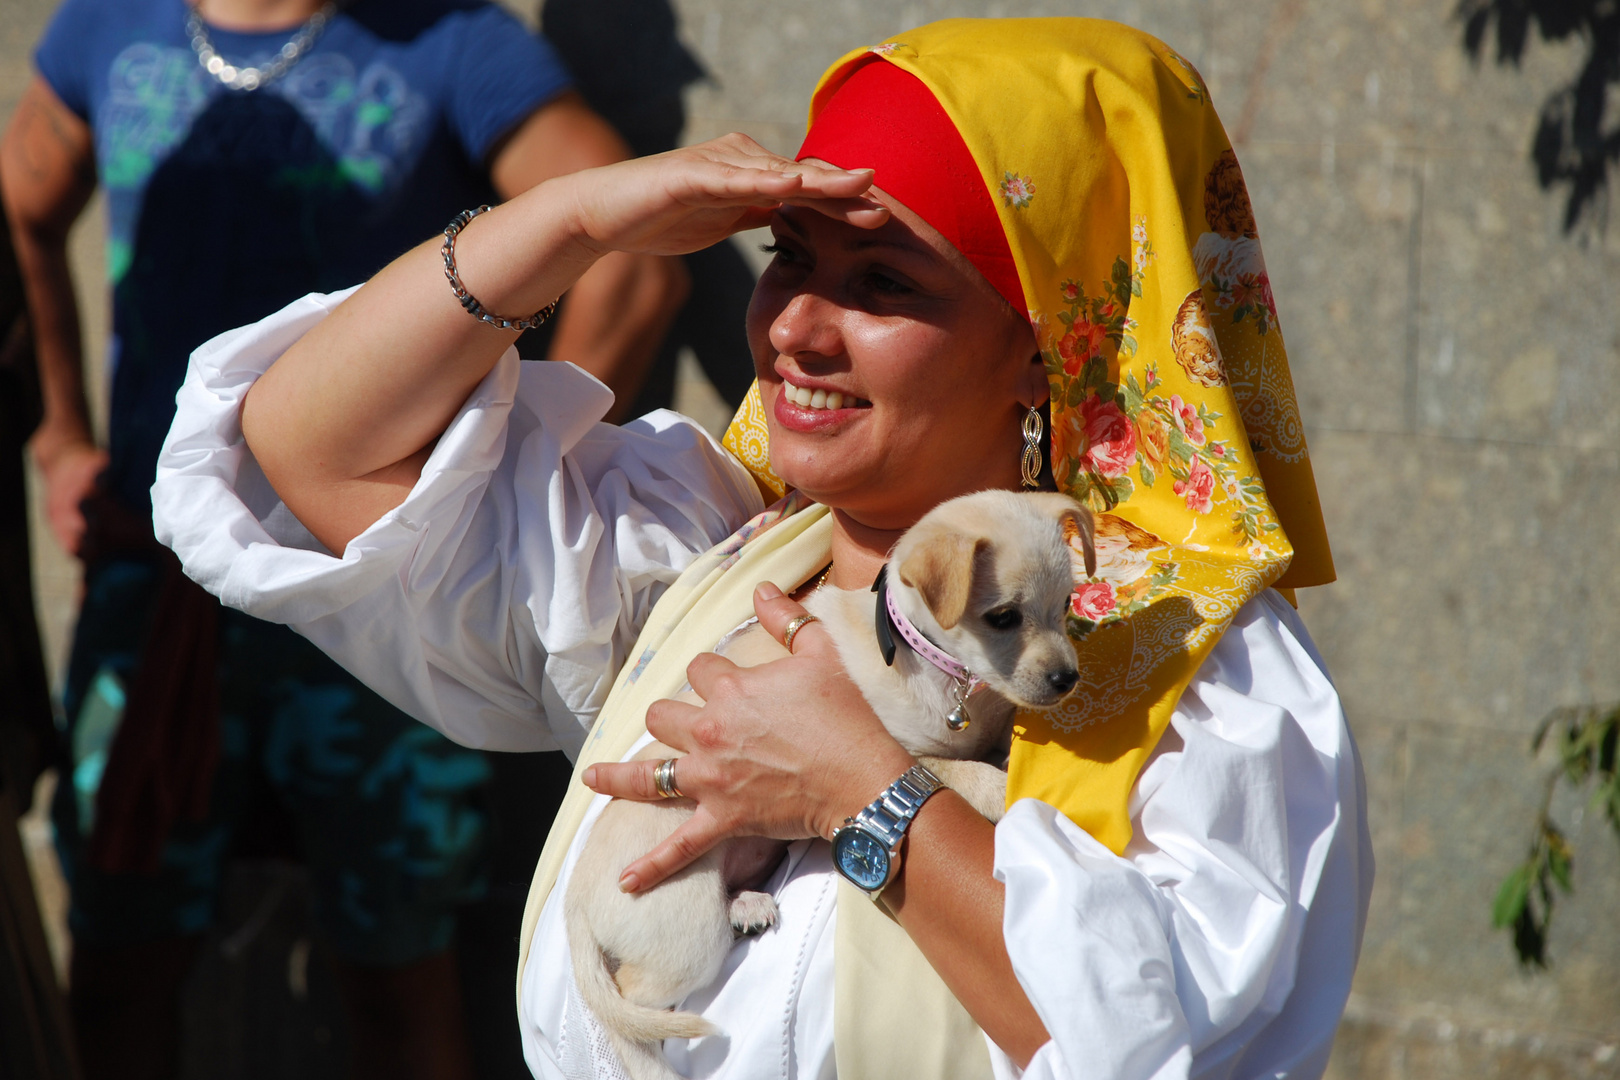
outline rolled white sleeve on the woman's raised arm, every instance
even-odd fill
[[[191,356],[152,486],[157,538],[225,604],[288,623],[395,706],[488,750],[573,756],[648,610],[763,500],[706,432],[507,350],[395,510],[327,552],[241,439],[243,395],[347,293]]]

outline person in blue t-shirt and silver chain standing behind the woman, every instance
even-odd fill
[[[86,563],[63,695],[76,766],[55,808],[86,1075],[173,1072],[178,988],[261,792],[311,868],[355,1075],[468,1075],[450,938],[480,887],[486,763],[202,596],[152,542],[147,489],[193,348],[629,151],[486,0],[66,0],[36,65],[0,186],[40,358],[47,517]],[[97,185],[105,450],[66,257]],[[684,291],[679,262],[603,259],[549,355],[630,402]]]

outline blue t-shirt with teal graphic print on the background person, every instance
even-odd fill
[[[107,487],[141,510],[191,350],[308,291],[363,282],[491,201],[484,159],[569,87],[484,0],[356,0],[280,79],[230,91],[183,0],[66,0],[36,53],[96,133],[113,290]],[[209,28],[237,66],[295,31]]]

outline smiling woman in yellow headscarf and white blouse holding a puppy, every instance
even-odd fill
[[[1364,792],[1280,593],[1332,563],[1204,83],[1111,23],[936,23],[839,60],[799,159],[727,136],[554,180],[209,343],[159,534],[452,738],[577,758],[522,934],[539,1077],[619,1067],[561,899],[608,797],[659,797],[627,761],[653,735],[697,814],[622,887],[727,836],[792,840],[779,925],[682,1004],[724,1031],[667,1041],[682,1074],[1319,1075],[1372,881]],[[758,225],[758,382],[724,449],[669,413],[596,423],[604,387],[520,368],[473,317],[541,309],[609,249]],[[1098,513],[1079,688],[1019,719],[1006,818],[933,795],[875,904],[826,839],[914,759],[820,625],[765,667],[710,649],[755,614],[781,640],[823,575],[868,586],[938,502],[1019,487],[1035,427],[1047,483]],[[706,704],[666,701],[688,678]]]

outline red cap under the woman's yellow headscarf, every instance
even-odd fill
[[[922,79],[873,57],[816,113],[799,160],[875,168],[873,185],[899,199],[967,256],[1013,311],[1024,287],[996,204],[956,125]]]

